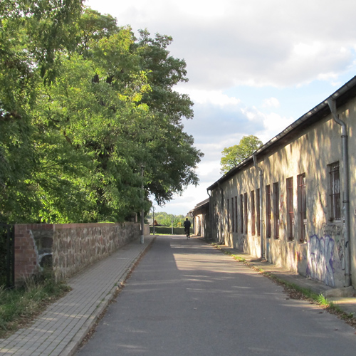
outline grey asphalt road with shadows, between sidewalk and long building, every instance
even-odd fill
[[[158,236],[76,355],[355,356],[355,331],[197,239]]]

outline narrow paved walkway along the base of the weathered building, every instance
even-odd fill
[[[356,290],[354,288],[332,288],[326,286],[324,283],[300,276],[298,273],[279,268],[272,263],[268,263],[266,260],[253,257],[248,253],[241,252],[235,248],[219,245],[219,249],[244,258],[249,266],[261,268],[263,271],[272,273],[283,281],[295,283],[297,286],[307,288],[317,294],[323,294],[325,298],[338,305],[342,311],[348,314],[353,314],[354,318],[356,318]]]

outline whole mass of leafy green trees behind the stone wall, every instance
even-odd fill
[[[202,153],[172,38],[81,0],[0,3],[0,220],[123,221],[188,184]]]

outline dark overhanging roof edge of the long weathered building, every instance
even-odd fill
[[[347,103],[351,98],[355,98],[355,96],[356,96],[356,76],[353,77],[351,80],[349,80],[345,85],[342,85],[341,88],[336,90],[335,93],[330,95],[330,97],[326,98],[322,103],[315,106],[315,108],[308,111],[298,120],[296,120],[291,125],[286,127],[285,130],[283,130],[278,135],[273,137],[273,139],[266,142],[265,145],[261,146],[258,150],[253,152],[253,155],[256,157],[256,162],[258,162],[259,159],[261,160],[263,157],[266,157],[266,155],[268,155],[270,152],[276,150],[276,147],[281,147],[283,145],[288,144],[290,138],[299,135],[300,131],[303,130],[305,127],[309,127],[310,125],[315,124],[315,122],[318,122],[322,120],[324,117],[330,115],[328,99],[335,100],[336,108],[340,108],[342,105]],[[226,180],[229,180],[230,177],[234,176],[241,169],[244,169],[244,167],[253,164],[253,155],[244,159],[244,161],[239,163],[236,167],[231,168],[229,172],[227,172],[226,174],[224,174],[224,176],[222,176],[216,182],[211,184],[211,186],[208,187],[207,190],[212,190],[215,189],[216,187],[219,187],[219,184],[226,182]]]

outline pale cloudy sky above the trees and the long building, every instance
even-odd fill
[[[119,26],[172,36],[194,102],[184,131],[204,152],[199,186],[155,211],[187,214],[221,177],[224,147],[268,142],[356,75],[355,0],[87,0]]]

